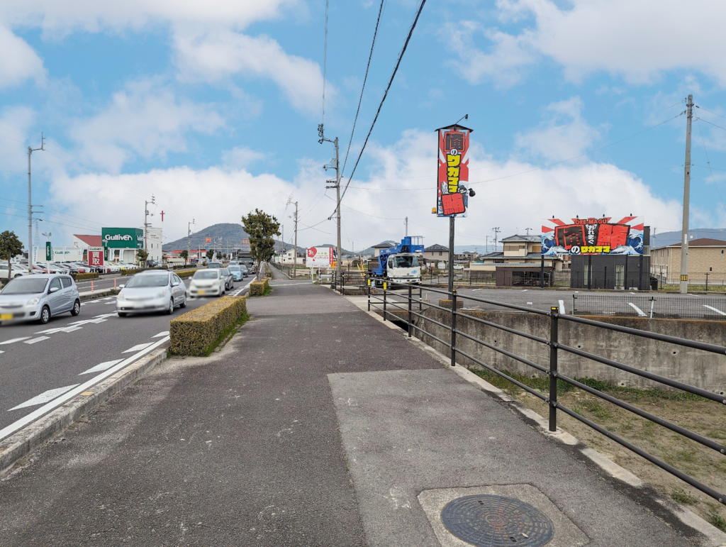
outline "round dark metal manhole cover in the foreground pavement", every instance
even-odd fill
[[[552,539],[552,521],[536,508],[501,495],[467,495],[441,511],[449,532],[478,547],[539,547]]]

